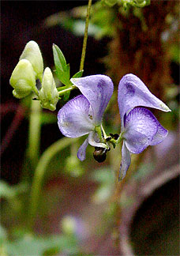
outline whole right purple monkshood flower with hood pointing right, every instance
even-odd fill
[[[167,130],[160,125],[152,112],[144,107],[161,111],[171,111],[166,104],[156,98],[137,76],[129,73],[122,77],[118,85],[118,107],[121,117],[122,163],[119,180],[129,168],[130,154],[139,154],[148,145],[157,145],[167,137]]]

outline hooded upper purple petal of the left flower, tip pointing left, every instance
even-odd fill
[[[80,89],[92,107],[92,117],[95,126],[102,122],[105,111],[113,93],[113,83],[105,75],[92,75],[81,78],[71,78],[73,85]]]

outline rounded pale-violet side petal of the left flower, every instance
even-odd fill
[[[89,134],[94,129],[92,119],[89,118],[88,100],[83,96],[77,96],[69,100],[58,111],[58,127],[66,137],[81,137]]]

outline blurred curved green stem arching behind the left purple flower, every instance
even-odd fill
[[[36,166],[35,175],[32,183],[32,191],[30,194],[30,205],[29,205],[29,228],[33,228],[36,211],[39,201],[39,195],[42,189],[43,184],[43,176],[47,169],[47,165],[49,164],[51,158],[62,149],[65,149],[67,146],[75,143],[78,138],[67,138],[64,137],[52,144],[49,148],[47,148],[42,156],[39,159],[39,162]]]

